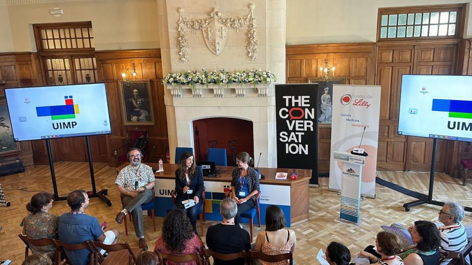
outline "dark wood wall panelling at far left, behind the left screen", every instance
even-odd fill
[[[39,71],[37,53],[0,54],[0,79],[6,81],[5,88],[41,85],[43,80],[37,78]],[[4,90],[1,89],[0,99],[4,99],[4,96]],[[11,157],[19,157],[25,166],[32,165],[33,152],[31,142],[20,142],[20,146],[22,152]]]

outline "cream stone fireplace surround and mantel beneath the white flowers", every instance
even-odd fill
[[[178,88],[167,86],[167,89]],[[201,88],[196,94],[195,90],[182,86],[179,96],[168,98],[172,99],[172,102],[166,102],[168,123],[175,122],[176,124],[177,146],[195,149],[193,121],[212,117],[248,120],[253,124],[252,137],[254,139],[254,150],[248,150],[249,153],[254,154],[257,163],[259,153],[262,152],[259,166],[276,167],[274,85],[262,84],[254,89],[252,85],[235,84],[222,90],[224,97],[217,96],[211,88]],[[262,90],[265,93],[261,94]],[[174,110],[173,115],[169,115],[170,109]],[[171,120],[172,118],[175,120]],[[175,150],[172,151],[171,161],[175,156]]]

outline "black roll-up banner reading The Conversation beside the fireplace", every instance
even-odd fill
[[[275,85],[277,167],[312,169],[318,185],[318,83]],[[290,177],[290,176],[289,176]]]

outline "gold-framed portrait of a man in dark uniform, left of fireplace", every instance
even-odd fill
[[[123,124],[128,126],[154,125],[154,107],[148,79],[119,81],[119,98]]]

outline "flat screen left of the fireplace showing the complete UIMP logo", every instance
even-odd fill
[[[15,141],[111,133],[104,83],[6,88]]]

